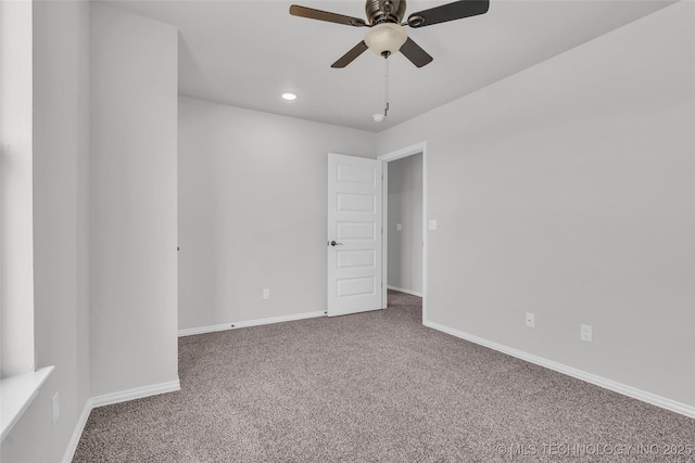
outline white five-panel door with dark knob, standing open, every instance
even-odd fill
[[[382,166],[328,154],[328,317],[382,308]]]

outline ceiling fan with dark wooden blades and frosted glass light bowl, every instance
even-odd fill
[[[290,14],[345,26],[369,27],[365,39],[334,62],[331,67],[345,67],[367,49],[371,49],[383,57],[401,51],[413,64],[422,67],[432,61],[432,56],[407,36],[405,26],[425,27],[484,14],[488,12],[490,1],[459,0],[413,13],[406,22],[402,23],[405,5],[406,0],[367,0],[365,5],[367,21],[296,4],[290,7]]]

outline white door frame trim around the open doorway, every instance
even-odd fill
[[[383,205],[381,207],[382,223],[383,228],[387,228],[387,219],[389,217],[389,168],[388,164],[392,160],[402,159],[404,157],[413,156],[416,154],[422,154],[422,322],[428,320],[427,318],[427,141],[422,141],[410,146],[405,146],[401,150],[392,151],[390,153],[386,153],[377,156],[377,159],[382,160],[384,164],[383,169],[383,194],[382,202]],[[383,233],[381,235],[382,244],[381,244],[381,260],[382,260],[382,282],[383,286],[381,288],[381,305],[383,308],[388,305],[388,271],[389,271],[389,243],[388,243],[389,233]]]

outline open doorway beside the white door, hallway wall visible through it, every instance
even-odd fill
[[[383,166],[383,291],[422,297],[427,320],[426,143],[378,157]]]

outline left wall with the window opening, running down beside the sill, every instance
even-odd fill
[[[35,1],[33,15],[36,364],[55,370],[3,440],[4,463],[60,461],[89,397],[89,3]]]

